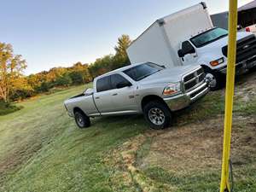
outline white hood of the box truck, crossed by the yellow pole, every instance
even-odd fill
[[[237,32],[236,40],[240,40],[241,38],[246,38],[247,36],[251,35],[250,32]],[[211,44],[207,44],[206,46],[203,46],[199,48],[200,52],[207,52],[212,51],[212,49],[219,49],[219,47],[224,47],[228,44],[229,37],[226,36],[224,38],[220,38],[217,41],[212,42]]]

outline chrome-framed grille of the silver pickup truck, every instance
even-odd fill
[[[201,84],[205,79],[205,73],[203,68],[195,70],[193,73],[189,73],[183,77],[183,84],[185,92],[192,90]]]

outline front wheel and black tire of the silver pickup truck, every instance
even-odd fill
[[[150,127],[155,130],[165,129],[172,123],[170,108],[163,102],[148,102],[143,108],[143,113]]]

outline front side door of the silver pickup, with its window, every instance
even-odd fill
[[[112,101],[116,111],[122,113],[136,113],[138,111],[137,99],[135,96],[136,85],[119,73],[111,75],[113,87]],[[130,84],[119,87],[119,84]]]

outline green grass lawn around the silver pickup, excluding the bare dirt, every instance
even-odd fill
[[[211,92],[176,113],[174,128],[166,131],[148,130],[141,115],[96,118],[92,119],[90,128],[79,130],[74,120],[67,116],[63,102],[83,90],[84,86],[78,86],[39,96],[17,104],[18,108],[24,107],[19,111],[0,116],[1,192],[147,191],[147,184],[154,186],[152,191],[218,191],[220,167],[177,172],[161,165],[158,159],[158,165],[145,160],[156,150],[154,144],[158,137],[172,131],[189,131],[192,125],[223,117],[224,90]],[[256,100],[236,100],[235,115],[250,115],[255,119],[255,109]],[[237,124],[241,132],[246,128]],[[253,125],[253,122],[248,124]],[[203,131],[200,134],[204,137]],[[253,134],[251,132],[250,137]],[[140,136],[145,139],[134,140]],[[235,134],[236,140],[239,137]],[[171,143],[174,138],[167,139]],[[180,139],[185,145],[189,144],[185,143],[186,138]],[[248,143],[251,141],[249,137],[244,139]],[[120,156],[123,146],[129,148],[135,141],[142,143],[131,151],[135,154],[133,166],[138,169],[131,172]],[[165,150],[165,147],[157,150]],[[167,155],[172,162],[172,153],[161,155]],[[234,166],[235,191],[256,191],[256,157],[249,149],[247,155],[247,163]]]

